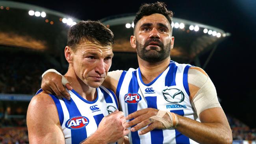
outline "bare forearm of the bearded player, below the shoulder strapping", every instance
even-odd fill
[[[178,116],[176,127],[180,133],[200,144],[231,144],[232,134],[225,124],[219,122],[201,123],[184,116]]]

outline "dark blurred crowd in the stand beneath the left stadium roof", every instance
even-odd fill
[[[35,94],[43,72],[55,67],[40,54],[6,53],[0,57],[0,93]]]

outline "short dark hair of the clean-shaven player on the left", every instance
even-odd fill
[[[112,46],[115,43],[113,32],[101,22],[92,20],[81,21],[69,29],[67,46],[75,50],[83,39],[102,46]]]

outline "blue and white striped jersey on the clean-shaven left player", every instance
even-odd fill
[[[92,102],[75,90],[68,90],[70,100],[49,94],[56,104],[66,144],[79,144],[96,131],[104,116],[119,109],[113,91],[102,86],[96,90],[97,98]]]

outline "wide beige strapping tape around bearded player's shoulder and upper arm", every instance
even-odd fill
[[[200,88],[191,101],[198,117],[206,109],[221,107],[217,98],[216,89],[208,76],[199,70],[189,68],[188,83]]]

